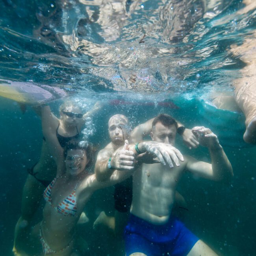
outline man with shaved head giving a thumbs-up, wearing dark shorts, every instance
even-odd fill
[[[108,133],[111,142],[98,153],[95,163],[95,173],[98,181],[107,180],[114,169],[133,170],[134,169],[134,152],[126,150],[124,147],[118,154],[116,150],[129,140],[130,123],[124,115],[117,114],[110,117],[108,121]],[[128,220],[130,205],[132,203],[132,176],[127,180],[115,185],[115,217],[106,216],[102,211],[96,219],[94,226],[105,224],[115,234],[121,235],[125,224]]]

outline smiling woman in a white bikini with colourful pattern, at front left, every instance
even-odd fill
[[[70,256],[76,224],[93,192],[132,174],[131,171],[115,170],[108,181],[98,182],[95,174],[87,171],[92,158],[91,148],[83,142],[70,141],[65,147],[64,158],[65,172],[58,168],[56,178],[46,187],[43,220],[33,232],[39,234],[44,255]]]

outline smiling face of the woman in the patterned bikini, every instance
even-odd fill
[[[66,171],[72,176],[76,176],[85,170],[88,163],[86,151],[83,149],[70,149],[67,151]]]

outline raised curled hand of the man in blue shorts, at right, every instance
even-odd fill
[[[192,128],[192,132],[197,137],[200,145],[207,148],[219,148],[219,140],[216,134],[214,134],[209,128],[204,126],[195,126]]]

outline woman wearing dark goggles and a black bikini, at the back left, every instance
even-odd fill
[[[56,176],[56,162],[52,154],[50,154],[51,145],[56,147],[59,159],[63,159],[63,148],[67,146],[70,140],[79,139],[82,126],[85,124],[85,119],[91,117],[100,108],[100,104],[96,102],[95,106],[83,114],[82,110],[71,101],[64,102],[59,108],[60,118],[56,117],[49,106],[39,107],[39,113],[42,115],[42,125],[48,126],[50,134],[48,139],[43,137],[41,148],[41,156],[39,161],[28,169],[28,177],[22,191],[22,208],[21,216],[15,226],[15,238],[13,252],[18,255],[26,250],[26,237],[29,232],[30,223],[33,215],[39,207],[39,203],[43,198],[44,189],[50,184]],[[47,116],[47,118],[45,118]],[[49,138],[54,141],[54,144],[49,143]],[[64,161],[63,161],[64,162]],[[86,222],[87,217],[82,213],[81,222]]]

